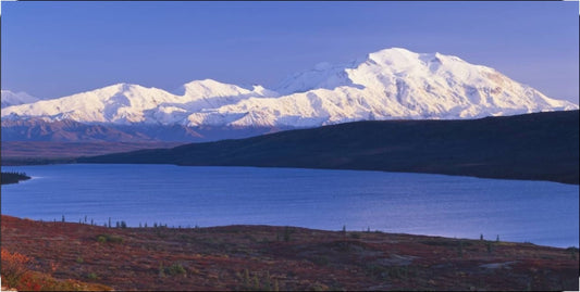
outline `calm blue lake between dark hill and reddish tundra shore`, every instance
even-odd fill
[[[173,165],[2,167],[2,214],[174,227],[279,225],[579,245],[578,186],[360,170]]]

